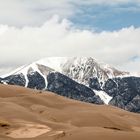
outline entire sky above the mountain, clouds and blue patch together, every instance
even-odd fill
[[[140,0],[0,0],[0,74],[48,56],[140,72]]]

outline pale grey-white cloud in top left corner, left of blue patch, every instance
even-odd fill
[[[65,18],[73,12],[67,0],[0,0],[0,23],[18,27],[41,25],[54,14]]]

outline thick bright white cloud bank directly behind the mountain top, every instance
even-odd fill
[[[0,25],[0,67],[9,69],[47,56],[93,56],[130,71],[140,71],[140,28],[91,32],[54,16],[40,27]],[[133,68],[132,68],[133,67]]]

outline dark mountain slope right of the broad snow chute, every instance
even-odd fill
[[[132,112],[140,112],[140,78],[109,79],[103,90],[113,97],[109,104]]]

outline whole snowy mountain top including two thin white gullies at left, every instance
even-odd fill
[[[22,66],[9,75],[23,74],[27,87],[29,82],[27,75],[38,72],[44,77],[47,86],[46,76],[51,71],[60,72],[84,85],[88,85],[89,79],[93,77],[97,77],[99,83],[103,84],[109,78],[129,74],[128,72],[116,70],[109,65],[100,64],[92,57],[48,57],[30,65]]]

